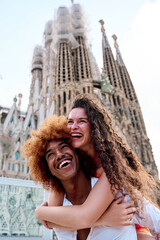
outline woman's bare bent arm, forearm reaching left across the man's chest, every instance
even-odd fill
[[[44,219],[64,227],[72,226],[73,229],[89,228],[104,213],[113,199],[110,183],[105,173],[103,173],[82,205],[39,206],[36,209],[36,216],[38,219]]]

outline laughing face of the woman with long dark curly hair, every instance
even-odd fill
[[[93,147],[91,124],[84,108],[74,108],[68,117],[68,128],[71,131],[72,146],[83,151]]]

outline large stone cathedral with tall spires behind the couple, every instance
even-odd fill
[[[46,23],[44,45],[37,45],[32,57],[32,79],[27,111],[20,111],[22,94],[10,109],[0,106],[0,176],[30,179],[27,159],[20,148],[49,114],[66,115],[79,93],[95,94],[110,111],[114,126],[123,140],[136,152],[145,168],[158,179],[152,147],[133,83],[113,35],[116,59],[102,34],[102,74],[87,42],[83,13],[79,4],[59,7]]]

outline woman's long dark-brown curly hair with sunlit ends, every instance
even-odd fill
[[[155,202],[153,193],[157,186],[153,177],[146,172],[136,154],[115,132],[111,117],[101,102],[93,95],[80,94],[71,109],[78,107],[83,108],[88,115],[95,150],[112,192],[117,189],[123,193],[124,188],[135,204],[143,197],[151,200],[151,196]]]

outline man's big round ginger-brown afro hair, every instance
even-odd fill
[[[45,153],[48,143],[55,139],[63,139],[70,145],[67,118],[56,115],[47,117],[38,130],[31,131],[31,135],[32,137],[24,142],[21,148],[22,155],[28,157],[31,177],[46,189],[64,190],[60,180],[50,172]],[[90,178],[94,172],[94,165],[91,165],[92,160],[78,149],[76,154],[79,157],[82,171],[86,177]],[[86,160],[86,158],[88,159]]]

